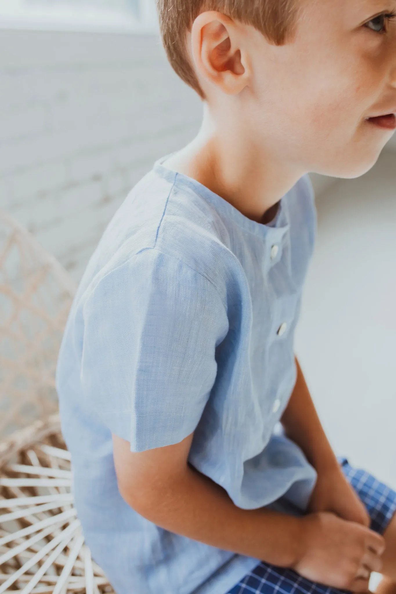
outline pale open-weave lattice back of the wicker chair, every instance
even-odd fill
[[[75,284],[0,211],[0,439],[56,412],[55,367]]]

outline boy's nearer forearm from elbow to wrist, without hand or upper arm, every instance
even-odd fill
[[[123,498],[170,532],[249,557],[292,567],[300,556],[302,519],[266,508],[243,510],[223,488],[189,467],[166,484]]]

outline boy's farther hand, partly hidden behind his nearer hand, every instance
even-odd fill
[[[370,526],[370,516],[365,505],[349,484],[340,466],[318,471],[308,511],[332,511],[336,516]]]

